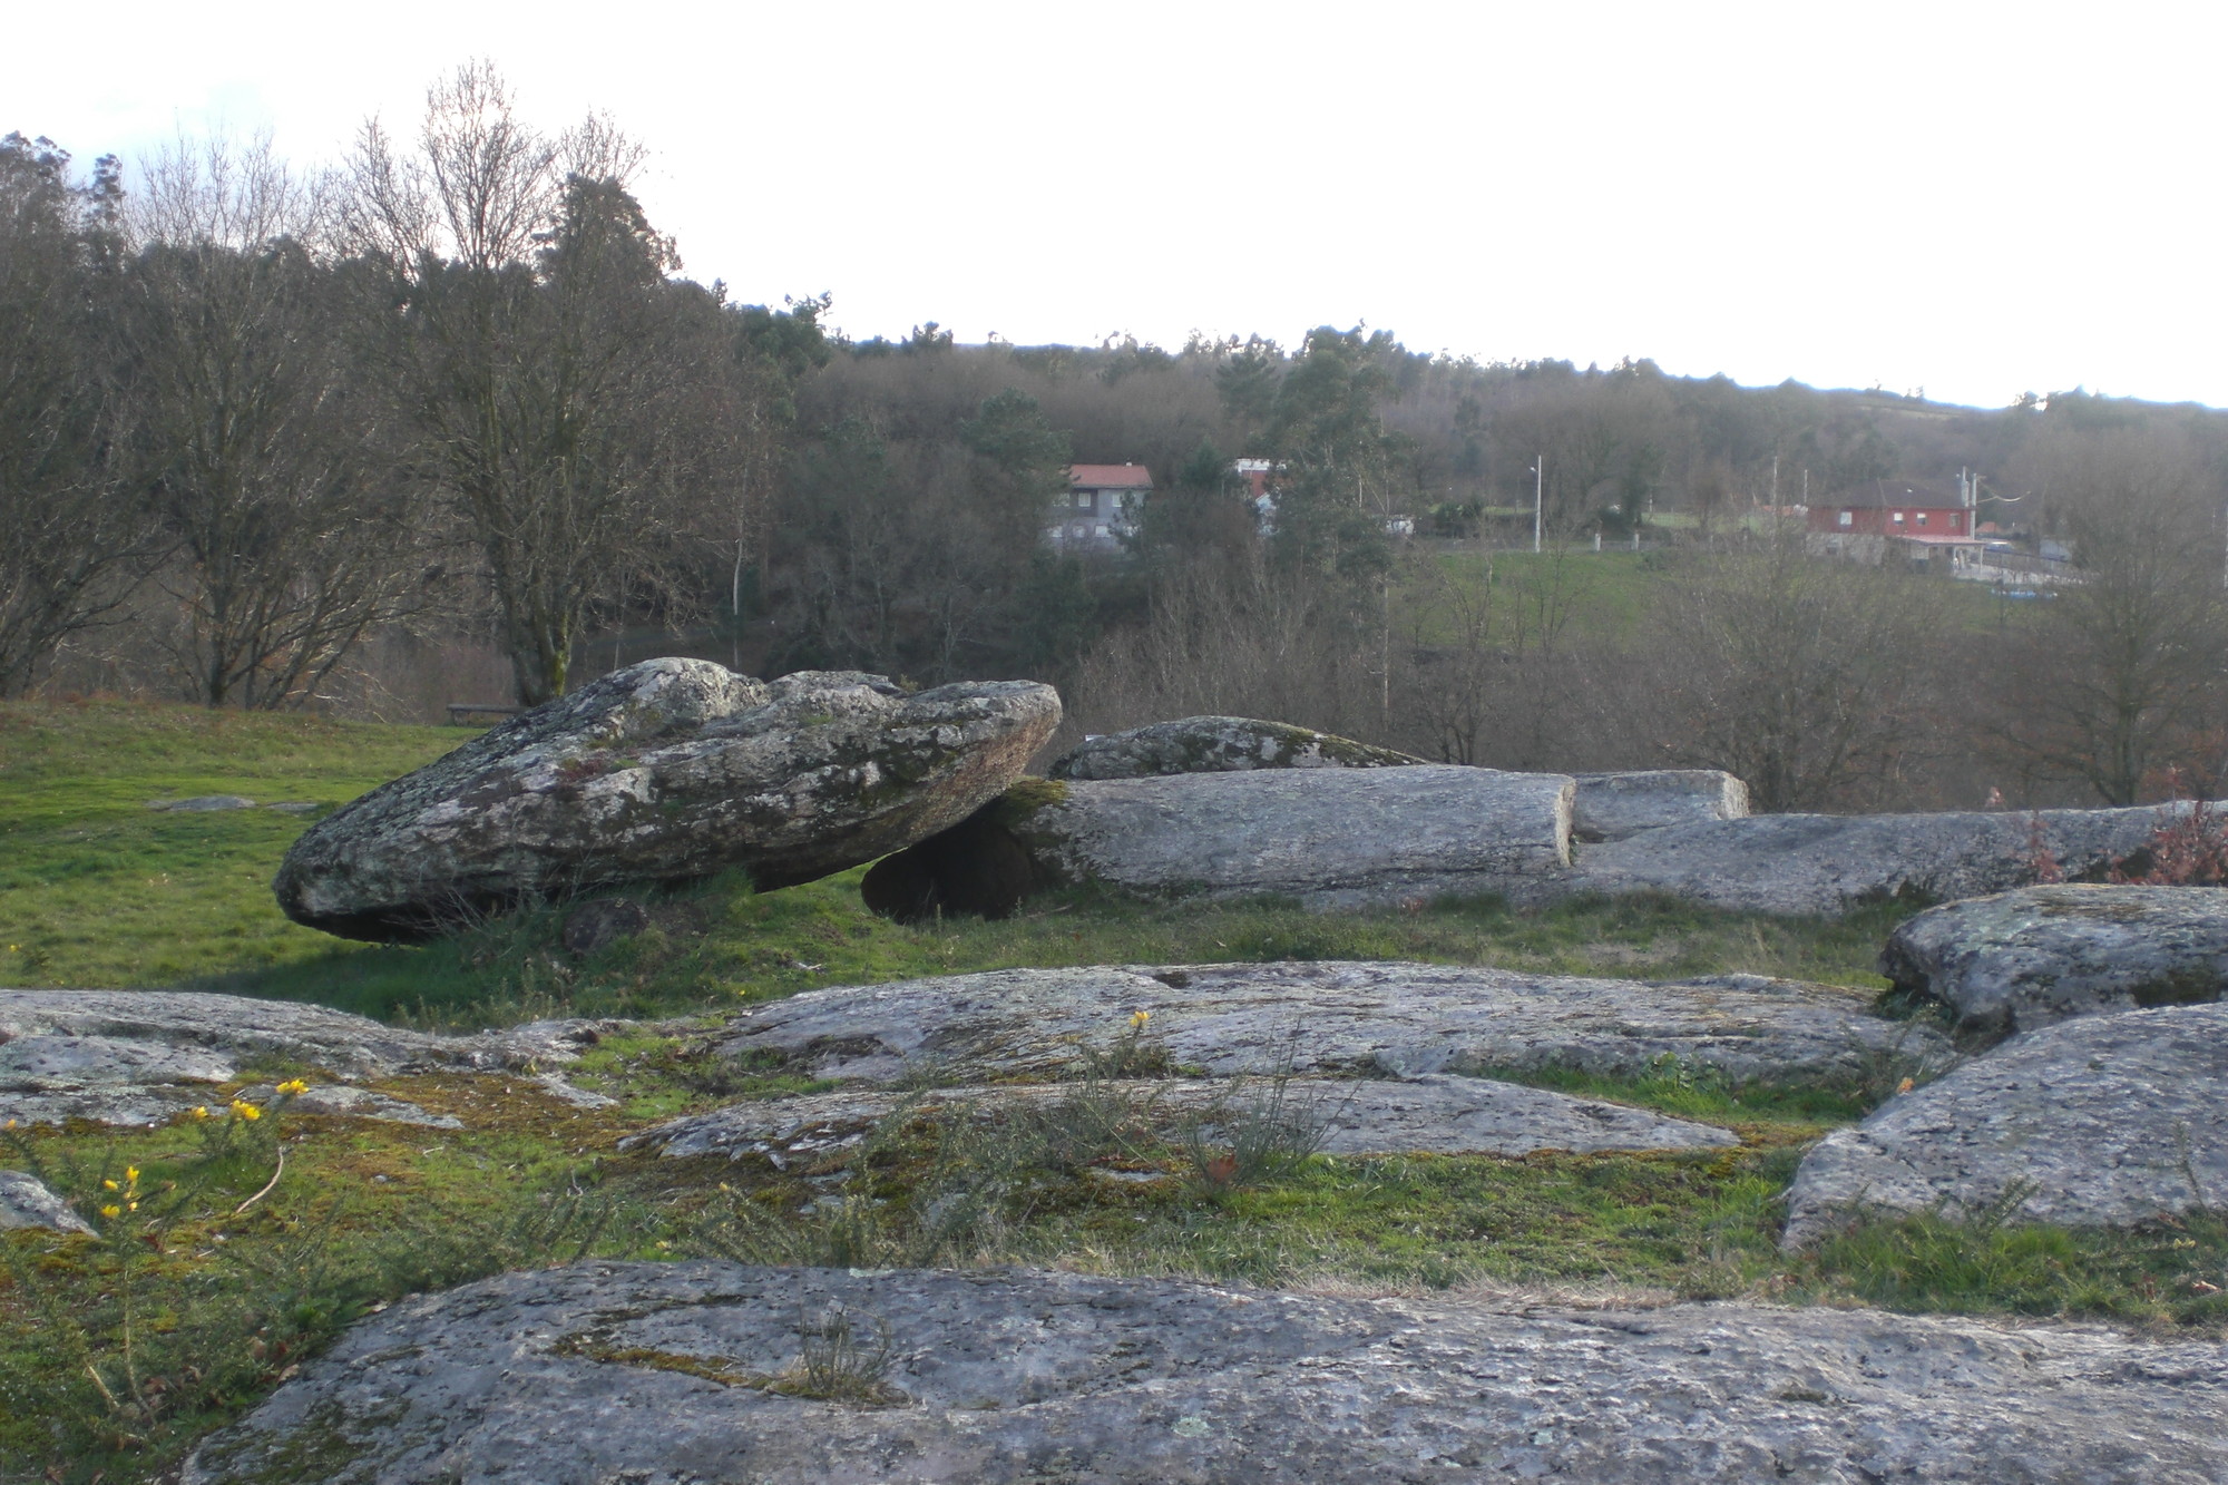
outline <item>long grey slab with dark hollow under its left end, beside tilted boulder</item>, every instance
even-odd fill
[[[945,883],[971,883],[971,863],[994,854],[1012,863],[998,879],[1007,912],[1029,890],[1078,883],[1312,908],[1497,892],[1569,865],[1573,789],[1564,774],[1435,763],[1045,780],[969,821],[960,841],[878,865],[867,901],[893,916],[949,910],[965,892]]]

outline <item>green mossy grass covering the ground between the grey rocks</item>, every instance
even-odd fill
[[[1800,1148],[1863,1117],[1892,1093],[1880,1081],[1731,1086],[1680,1066],[1638,1079],[1533,1072],[1524,1081],[1713,1122],[1742,1144],[1526,1159],[1301,1155],[1259,1180],[1214,1175],[1212,1155],[1167,1128],[1110,1135],[1101,1115],[1076,1115],[1067,1130],[1061,1117],[1020,1128],[900,1115],[820,1166],[619,1151],[653,1119],[824,1088],[709,1055],[697,1030],[709,1021],[695,1021],[811,986],[1005,965],[1406,957],[1878,988],[1872,959],[1905,908],[1811,923],[1649,899],[1315,916],[1272,901],[1076,894],[1005,923],[907,928],[867,914],[844,874],[773,894],[740,879],[653,894],[651,932],[586,959],[559,948],[555,905],[388,950],[278,916],[267,881],[301,816],[145,809],[192,794],[341,803],[457,740],[452,729],[123,702],[0,707],[0,983],[194,983],[443,1028],[668,1017],[606,1039],[577,1068],[579,1084],[617,1099],[610,1108],[575,1108],[510,1077],[410,1077],[383,1090],[463,1128],[281,1110],[263,1144],[214,1164],[194,1122],[18,1130],[22,1144],[0,1164],[45,1168],[82,1209],[98,1213],[100,1182],[136,1166],[143,1188],[176,1211],[154,1242],[107,1220],[98,1240],[0,1240],[0,1478],[160,1478],[350,1320],[410,1291],[584,1249],[2228,1324],[2228,1224],[2212,1217],[2139,1233],[1914,1217],[1782,1255],[1778,1202]],[[136,1396],[118,1394],[127,1298]],[[149,1391],[147,1378],[160,1387]]]

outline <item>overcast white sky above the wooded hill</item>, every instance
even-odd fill
[[[856,337],[1395,330],[1745,384],[2228,406],[2228,7],[107,4],[0,132],[336,158],[492,58],[613,114],[686,272]]]

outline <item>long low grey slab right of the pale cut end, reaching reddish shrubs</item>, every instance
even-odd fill
[[[2172,812],[2043,809],[2041,829],[2068,876],[2101,874],[2143,850]],[[2007,812],[1756,814],[1593,845],[1571,872],[1513,876],[1504,890],[1517,901],[1669,892],[1785,914],[1836,914],[1896,894],[1952,901],[2032,885],[2032,821]]]

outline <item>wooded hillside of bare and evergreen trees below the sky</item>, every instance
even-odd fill
[[[651,627],[744,669],[1043,676],[1074,725],[1250,711],[1502,767],[1729,767],[1778,809],[2212,787],[2228,419],[1292,346],[851,341],[684,276],[610,120],[459,69],[330,172],[185,140],[125,190],[0,140],[0,693],[71,656],[207,705],[472,633],[532,705]],[[1272,470],[1270,520],[1232,470]],[[1043,531],[1136,462],[1127,551]],[[1794,506],[1981,470],[2072,553],[1970,602],[1820,560]],[[1537,502],[1542,546],[1528,544]],[[1649,611],[1584,622],[1589,546]]]

